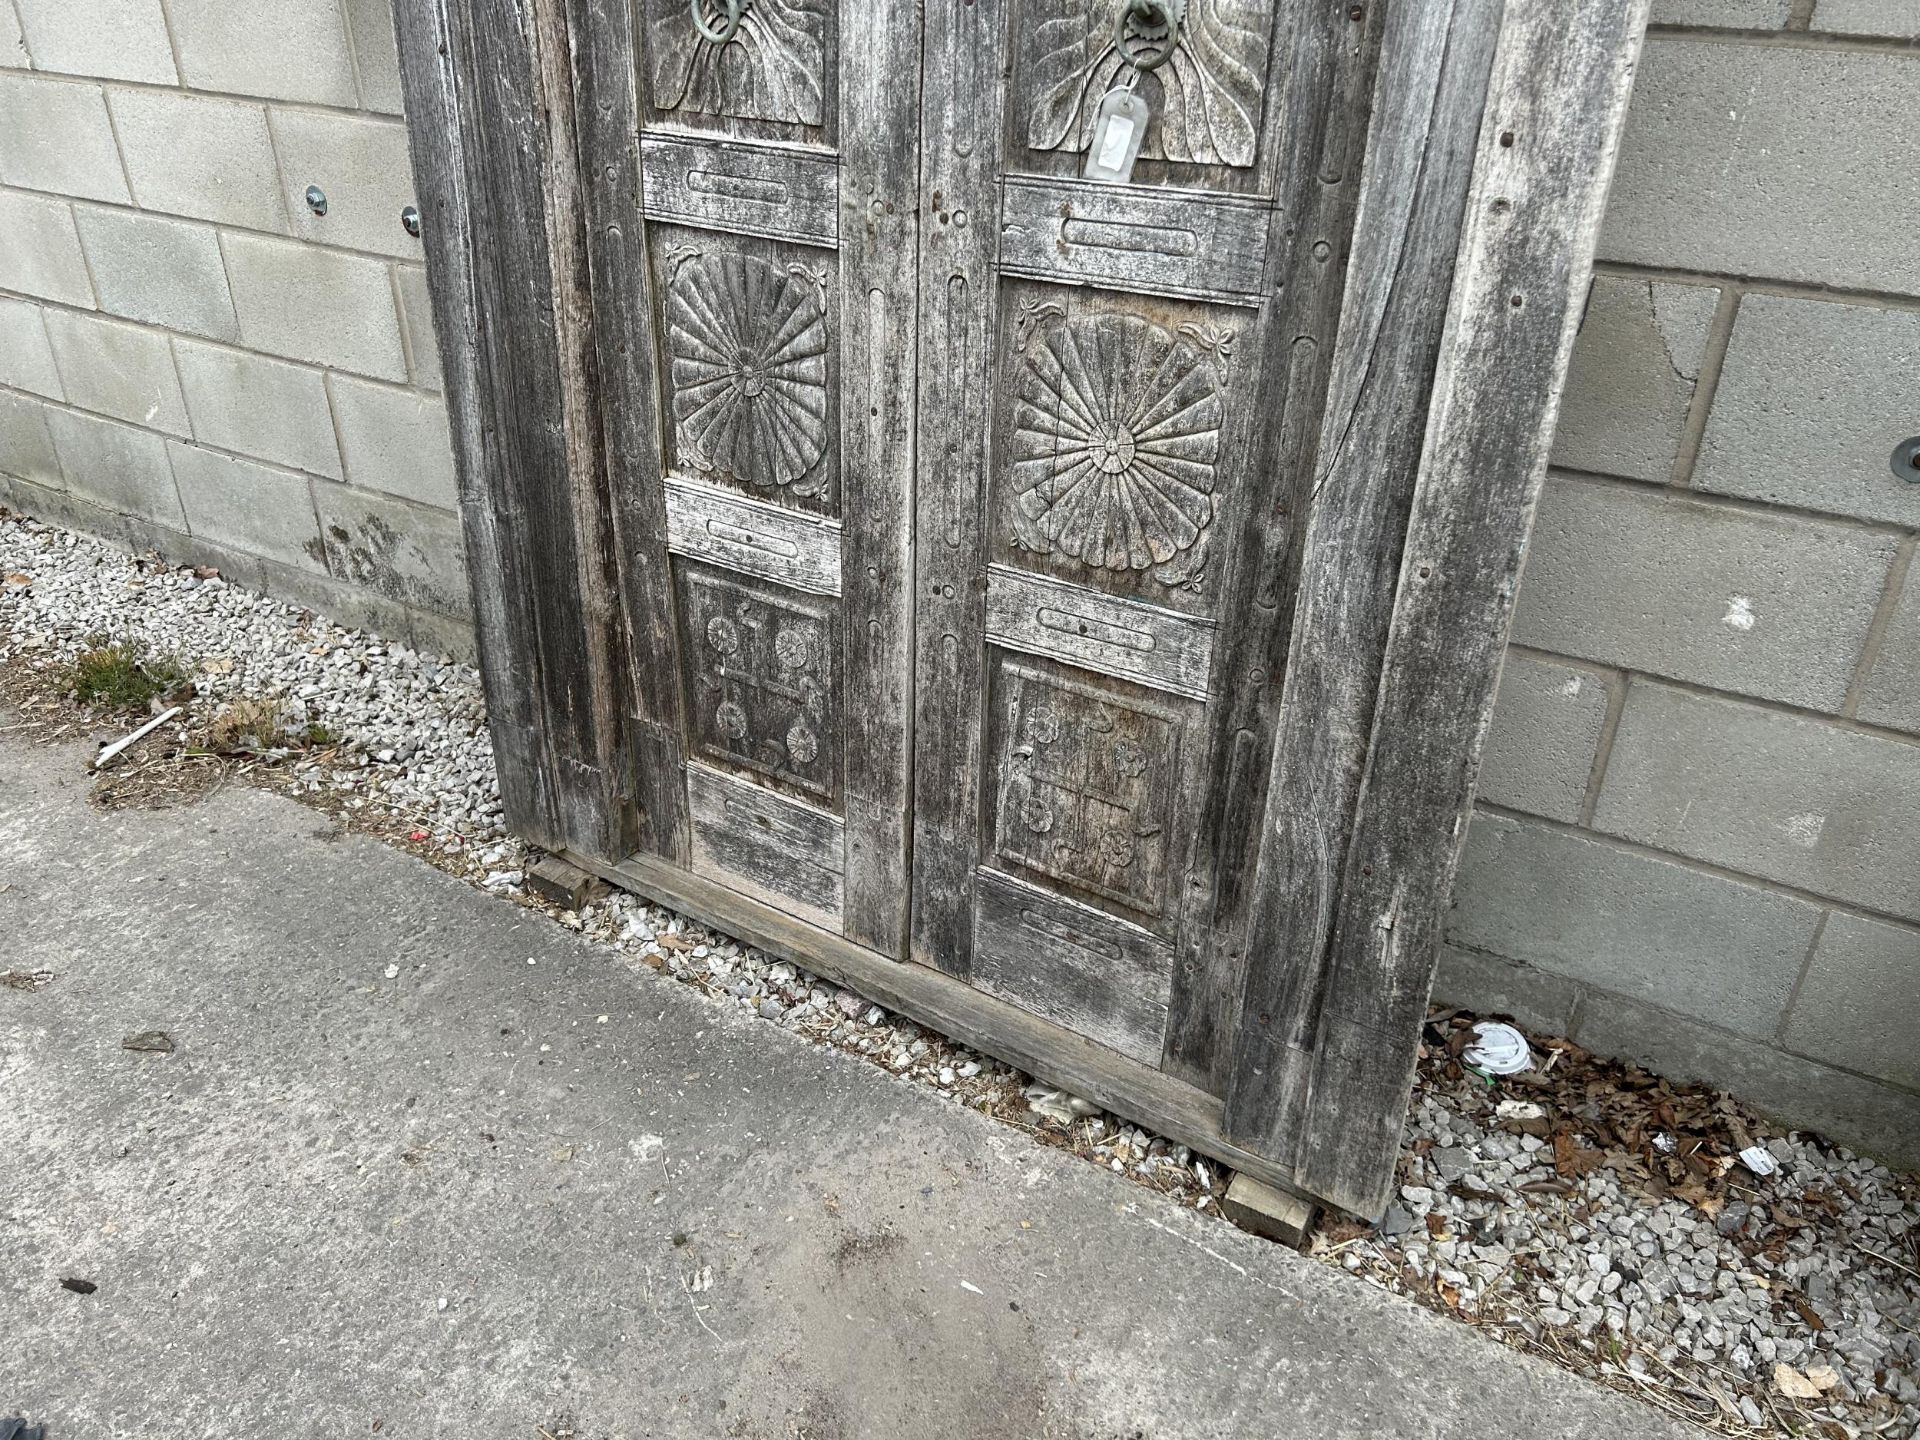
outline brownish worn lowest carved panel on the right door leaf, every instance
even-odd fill
[[[1177,705],[1000,657],[993,854],[1139,916],[1167,916],[1181,787]]]

